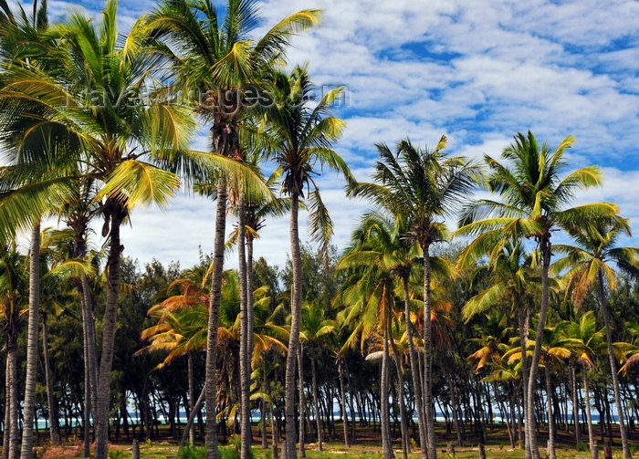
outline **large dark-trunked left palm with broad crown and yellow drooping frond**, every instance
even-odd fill
[[[2,141],[12,154],[28,155],[41,164],[55,162],[66,171],[75,168],[72,177],[100,182],[96,199],[105,220],[102,235],[109,236],[110,247],[95,407],[100,459],[106,457],[108,447],[110,370],[123,250],[120,225],[135,205],[168,202],[180,180],[148,160],[166,161],[174,152],[186,151],[195,128],[189,112],[168,100],[153,99],[149,105],[124,100],[124,95],[141,96],[154,59],[141,52],[146,39],[142,21],[119,40],[117,5],[115,0],[107,1],[100,24],[80,14],[70,15],[67,23],[52,32],[68,51],[59,57],[57,71],[11,68],[5,72],[0,95]]]

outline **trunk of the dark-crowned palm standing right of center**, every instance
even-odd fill
[[[428,440],[428,457],[437,458],[435,443],[435,413],[433,412],[433,329],[431,324],[431,262],[429,244],[422,243],[424,253],[424,412]]]

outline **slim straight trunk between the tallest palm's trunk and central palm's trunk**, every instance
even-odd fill
[[[250,292],[247,290],[246,282],[246,206],[244,197],[240,196],[237,203],[237,254],[238,274],[240,279],[240,409],[241,409],[241,459],[250,459],[251,457],[251,364],[250,351],[248,348],[248,296]]]

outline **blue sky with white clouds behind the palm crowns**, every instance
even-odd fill
[[[81,6],[79,6],[81,5]],[[102,2],[51,1],[98,15]],[[150,11],[151,0],[120,0],[124,28]],[[309,62],[319,88],[343,86],[337,115],[348,121],[337,151],[360,180],[376,159],[375,142],[405,137],[448,151],[497,157],[518,131],[557,145],[578,142],[571,166],[599,164],[602,189],[578,202],[612,201],[639,236],[639,2],[610,0],[273,0],[261,5],[264,26],[305,8],[324,9],[322,25],[296,37],[291,65]],[[204,148],[206,142],[200,141]],[[343,247],[366,203],[344,197],[343,181],[321,177],[321,192]],[[136,211],[123,232],[125,255],[141,262],[197,261],[213,246],[215,203],[178,196],[163,211]],[[639,245],[639,238],[624,241]],[[288,222],[269,222],[257,256],[283,266]],[[228,265],[236,265],[235,257]]]

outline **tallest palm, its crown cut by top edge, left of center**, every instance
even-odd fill
[[[207,91],[206,96],[212,103],[200,104],[198,110],[213,121],[214,150],[241,158],[237,122],[246,110],[246,89],[252,85],[258,87],[261,78],[284,57],[290,38],[317,24],[318,20],[318,10],[301,11],[284,18],[255,41],[250,37],[260,24],[255,0],[229,0],[225,15],[219,14],[210,0],[165,0],[153,12],[150,26],[154,36],[165,43],[160,51],[173,60],[183,89],[199,91],[201,95],[203,90]],[[230,99],[227,99],[228,94],[232,95]],[[226,196],[226,177],[223,175],[217,182],[214,271],[206,348],[206,406],[212,411],[212,415],[207,416],[206,437],[210,458],[217,457],[215,349],[224,269]],[[245,425],[246,422],[248,420]],[[244,431],[242,459],[248,459],[250,437],[246,428]]]

